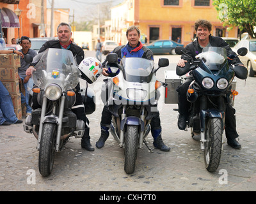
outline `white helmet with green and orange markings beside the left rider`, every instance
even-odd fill
[[[97,78],[102,75],[102,64],[94,57],[86,57],[83,59],[78,68],[82,73],[81,78],[86,80],[89,84],[96,82]]]

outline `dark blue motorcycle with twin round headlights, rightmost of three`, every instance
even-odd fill
[[[205,168],[214,172],[220,164],[223,150],[226,104],[231,105],[238,94],[232,90],[232,80],[235,76],[246,79],[247,69],[234,66],[232,59],[236,56],[227,57],[226,49],[221,47],[203,48],[202,53],[196,55],[197,61],[193,61],[183,47],[175,48],[175,52],[191,58],[184,68],[177,66],[176,73],[183,76],[190,71],[194,79],[187,92],[187,99],[191,103],[187,126],[191,128],[193,138],[200,138]],[[240,48],[237,52],[244,56],[247,49]],[[228,61],[231,61],[230,65]]]

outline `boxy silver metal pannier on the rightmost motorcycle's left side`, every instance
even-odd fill
[[[165,88],[164,103],[178,103],[178,92],[176,89],[181,85],[181,79],[176,75],[176,71],[164,71],[165,83],[168,84]]]

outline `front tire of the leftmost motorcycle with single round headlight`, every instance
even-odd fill
[[[40,140],[38,168],[43,177],[52,172],[56,149],[56,124],[45,123]]]

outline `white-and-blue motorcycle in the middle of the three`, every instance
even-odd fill
[[[149,149],[145,138],[150,131],[150,120],[157,113],[159,88],[165,85],[156,79],[156,71],[168,66],[169,61],[159,59],[157,69],[154,61],[139,57],[124,57],[118,64],[118,57],[113,53],[107,56],[107,61],[107,67],[119,69],[120,73],[102,86],[107,88],[102,89],[101,97],[112,114],[111,135],[124,147],[124,170],[133,173],[143,142]]]

